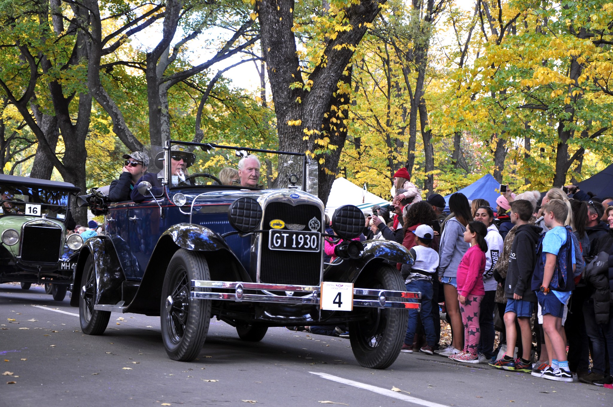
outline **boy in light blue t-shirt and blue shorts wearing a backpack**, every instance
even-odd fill
[[[543,313],[543,330],[549,338],[551,366],[541,371],[541,377],[572,382],[573,375],[566,359],[566,343],[562,338],[562,316],[564,305],[574,289],[575,254],[573,233],[564,224],[570,205],[560,199],[552,199],[544,207],[545,234],[532,275],[532,289]],[[546,341],[547,343],[547,341]]]

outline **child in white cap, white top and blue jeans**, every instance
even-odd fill
[[[417,330],[419,312],[427,341],[427,345],[419,350],[432,355],[432,347],[436,341],[434,319],[432,318],[432,295],[434,291],[432,277],[436,274],[436,267],[438,267],[438,253],[430,247],[434,238],[432,227],[422,224],[417,226],[413,233],[415,235],[415,246],[409,250],[409,254],[413,257],[413,265],[403,264],[401,273],[405,278],[406,291],[421,292],[422,308],[421,312],[409,310],[409,322],[401,352],[413,353],[413,337]]]

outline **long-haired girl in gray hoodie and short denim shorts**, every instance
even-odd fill
[[[460,315],[457,283],[455,276],[462,256],[470,245],[464,242],[466,225],[472,220],[468,199],[461,193],[453,194],[449,198],[449,210],[453,218],[445,223],[439,249],[440,262],[438,265],[438,280],[443,283],[445,306],[451,321],[452,340],[449,348],[438,352],[441,356],[450,356],[460,353],[464,346],[464,325]]]

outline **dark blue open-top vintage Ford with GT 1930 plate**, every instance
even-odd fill
[[[305,154],[170,141],[151,158],[160,172],[132,191],[142,202],[109,203],[107,235],[80,251],[70,303],[84,333],[102,334],[111,311],[161,316],[167,354],[189,361],[213,316],[245,341],[268,327],[346,324],[361,365],[395,361],[408,308],[421,306],[396,268],[411,257],[395,242],[353,240],[364,214],[352,205],[327,235]],[[330,263],[324,239],[336,245]]]

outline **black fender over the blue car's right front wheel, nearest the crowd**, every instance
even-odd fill
[[[330,265],[324,270],[324,281],[355,283],[363,270],[381,262],[413,264],[408,249],[391,240],[367,240],[359,259],[343,260],[340,264]]]

